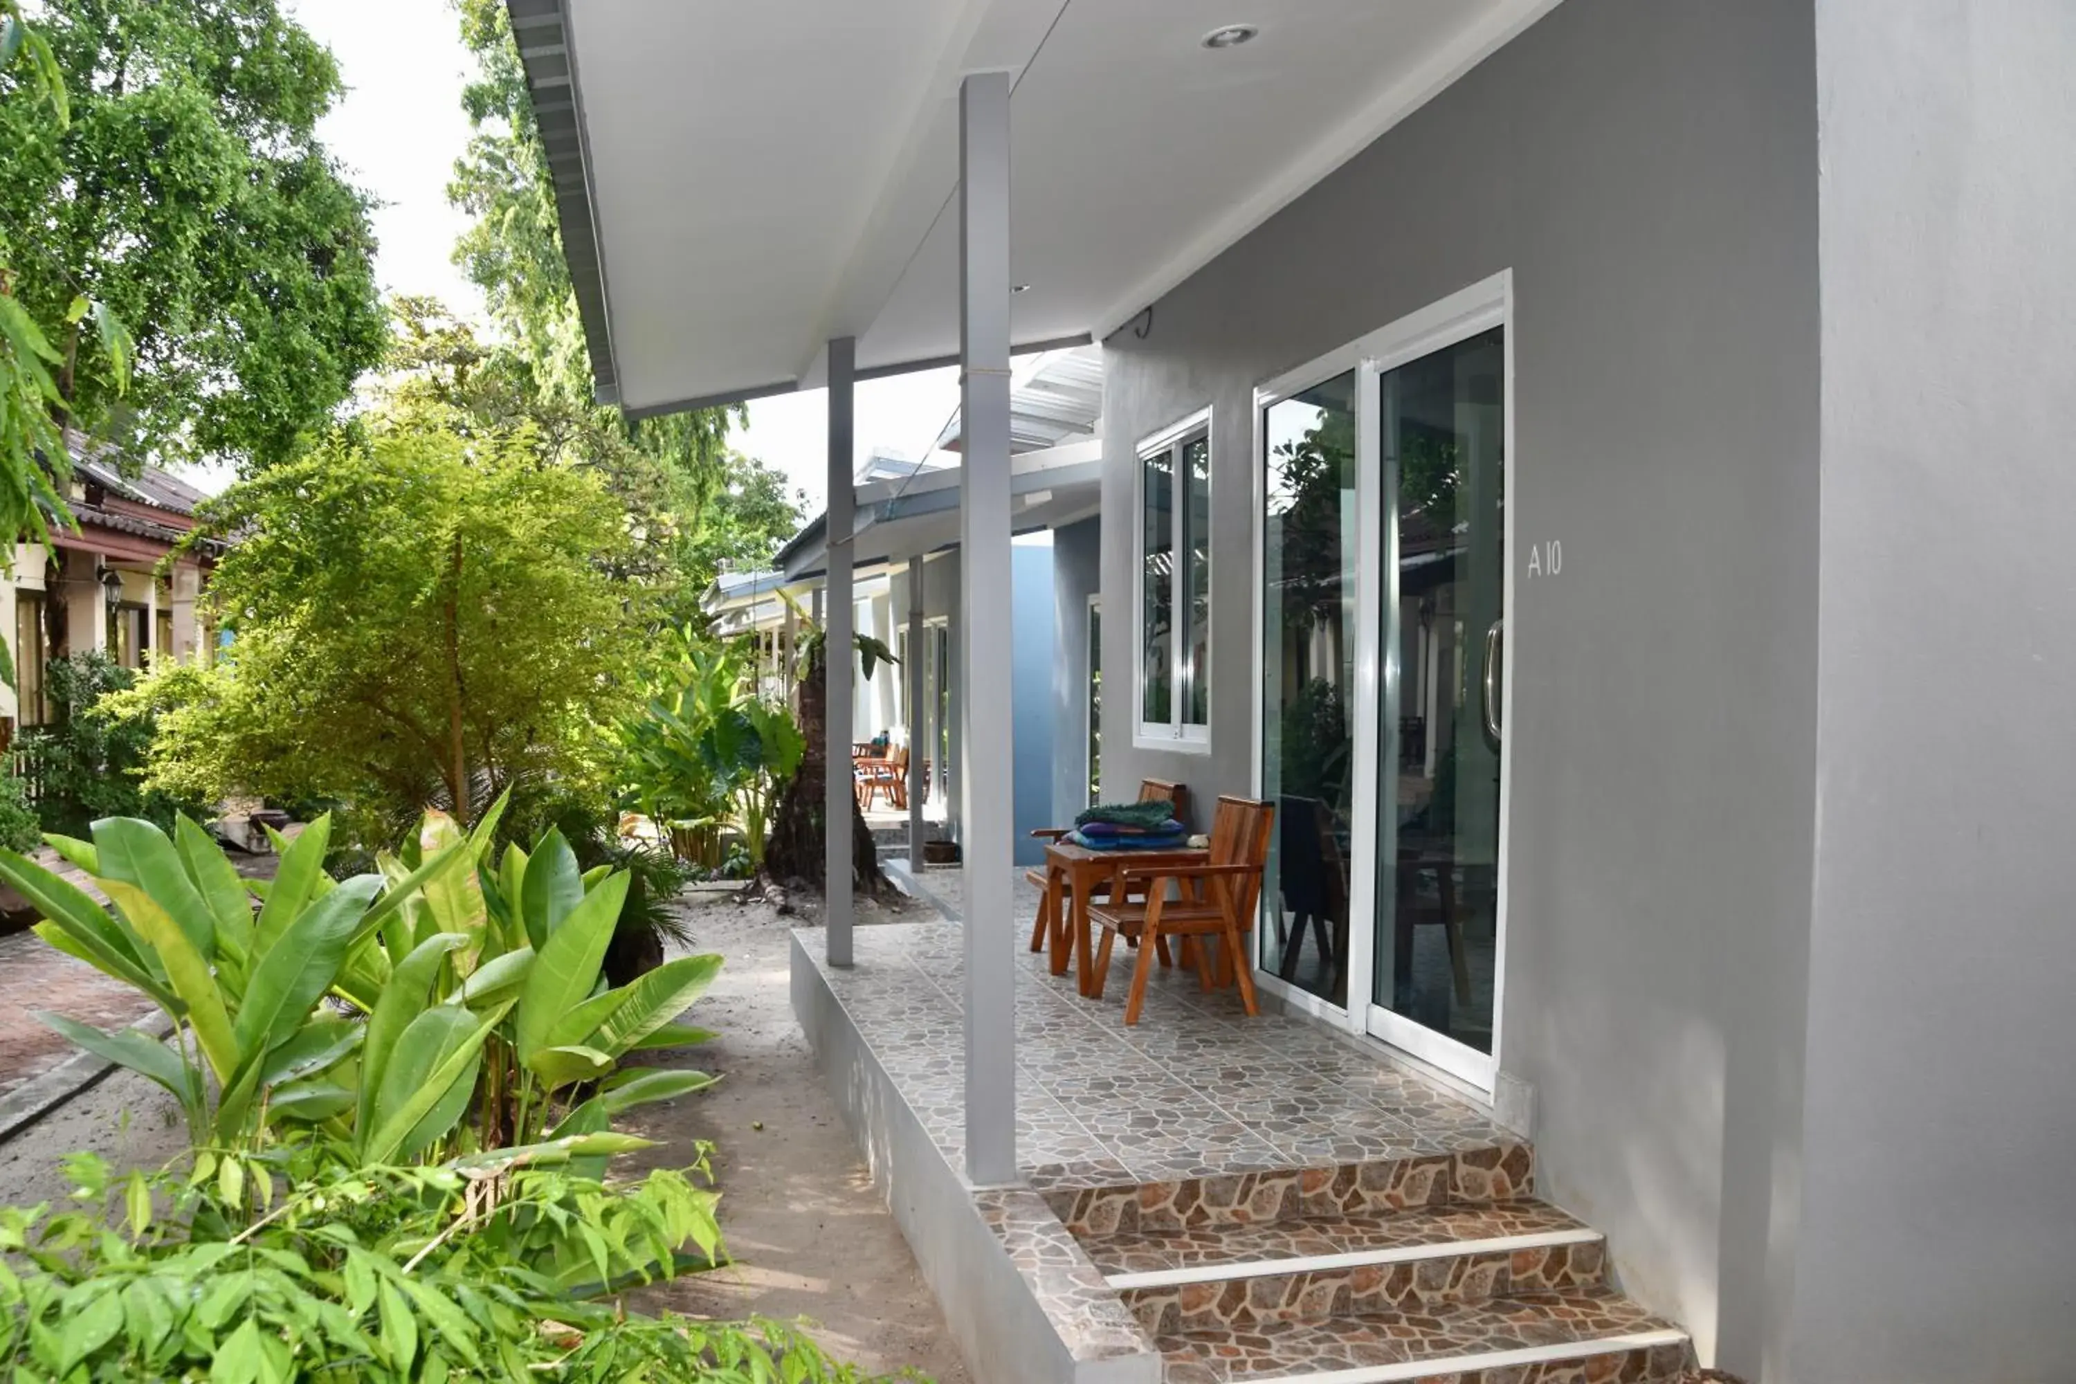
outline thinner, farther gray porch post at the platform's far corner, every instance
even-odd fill
[[[822,857],[822,932],[828,965],[851,965],[851,681],[857,656],[851,652],[851,380],[857,342],[839,336],[828,342],[828,510],[826,556],[828,598],[822,602],[822,664],[828,670],[824,701],[828,730],[828,776],[822,797],[826,853]]]

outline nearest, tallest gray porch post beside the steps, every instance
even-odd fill
[[[959,87],[965,1174],[1017,1181],[1009,716],[1009,75]]]

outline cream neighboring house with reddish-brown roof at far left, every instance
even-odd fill
[[[0,631],[15,660],[15,691],[0,687],[8,739],[52,718],[44,666],[54,658],[106,649],[125,668],[152,658],[208,660],[195,604],[210,550],[160,571],[206,498],[158,467],[122,475],[106,450],[75,442],[69,504],[77,531],[54,527],[48,552],[17,544],[0,583]]]

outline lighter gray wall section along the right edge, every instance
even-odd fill
[[[1819,845],[1767,1380],[2070,1380],[2076,8],[1814,8]]]

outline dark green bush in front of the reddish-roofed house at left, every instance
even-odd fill
[[[158,726],[149,714],[116,716],[108,701],[137,683],[133,670],[87,649],[54,658],[48,676],[58,720],[17,739],[39,784],[35,811],[46,832],[77,836],[100,818],[143,818],[170,830],[174,813],[208,815],[210,799],[199,793],[143,784]]]

